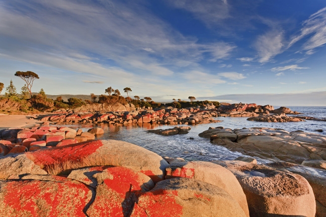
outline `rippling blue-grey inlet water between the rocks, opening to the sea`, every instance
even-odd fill
[[[318,118],[325,118],[326,107],[290,107],[293,111],[308,113],[309,116],[314,117],[314,111]],[[308,116],[308,115],[307,115]],[[151,125],[143,123],[142,125],[127,125],[127,126],[114,126],[109,124],[98,124],[97,126],[103,128],[104,134],[101,139],[115,139],[130,142],[139,145],[150,151],[153,151],[161,156],[169,157],[183,157],[186,160],[233,160],[238,156],[243,156],[239,152],[233,152],[224,148],[223,146],[214,145],[210,143],[209,139],[204,139],[198,136],[199,133],[207,130],[209,127],[223,126],[224,128],[249,128],[249,127],[270,127],[281,128],[287,131],[302,130],[305,132],[318,133],[314,130],[323,129],[324,132],[318,133],[326,135],[326,122],[320,121],[304,121],[304,122],[287,122],[287,123],[267,123],[267,122],[254,122],[247,121],[246,117],[219,117],[223,120],[221,123],[212,123],[204,125],[193,125],[188,134],[162,136],[153,133],[147,133],[149,129],[167,129],[175,126],[171,125]],[[82,128],[87,131],[95,125],[65,125],[73,128]],[[178,125],[188,126],[188,125]],[[189,139],[193,137],[194,140]],[[255,157],[256,158],[256,157]],[[256,158],[258,162],[268,162],[268,160],[261,160]]]

